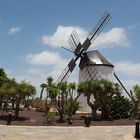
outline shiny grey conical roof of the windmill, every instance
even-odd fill
[[[86,55],[89,64],[109,65],[113,67],[113,65],[98,50],[86,52]]]

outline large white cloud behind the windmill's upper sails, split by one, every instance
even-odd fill
[[[81,27],[58,26],[53,35],[44,35],[41,38],[42,42],[52,47],[68,47],[68,38],[73,29],[76,29],[81,42],[88,36],[88,32]],[[128,41],[126,30],[124,28],[116,27],[108,32],[102,32],[92,46],[97,48],[116,46],[128,47],[130,46],[130,42]]]

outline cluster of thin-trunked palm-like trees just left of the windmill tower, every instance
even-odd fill
[[[72,123],[72,115],[79,109],[77,102],[80,92],[77,93],[76,83],[60,83],[58,86],[58,112],[60,115],[60,122],[64,121],[64,115],[68,115],[69,123]]]

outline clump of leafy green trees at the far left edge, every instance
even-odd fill
[[[25,98],[33,97],[36,93],[35,87],[26,81],[18,83],[16,79],[9,78],[4,69],[0,69],[0,109],[12,103],[12,109],[15,109],[15,116],[19,115],[19,105]],[[16,108],[14,108],[16,104]]]

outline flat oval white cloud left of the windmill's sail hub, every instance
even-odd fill
[[[28,63],[36,65],[53,65],[65,61],[59,52],[49,51],[43,51],[38,54],[28,54],[25,59]]]

